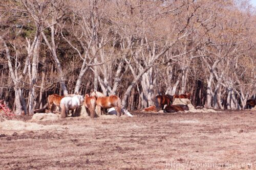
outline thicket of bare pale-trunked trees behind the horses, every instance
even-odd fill
[[[256,14],[248,1],[4,0],[0,99],[33,114],[52,93],[117,94],[128,109],[158,93],[242,109],[255,94]]]

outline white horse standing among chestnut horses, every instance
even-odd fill
[[[74,116],[74,110],[83,104],[83,96],[76,94],[74,96],[67,96],[60,101],[61,113],[60,117],[65,118],[68,116],[69,110],[72,110],[72,116]]]

